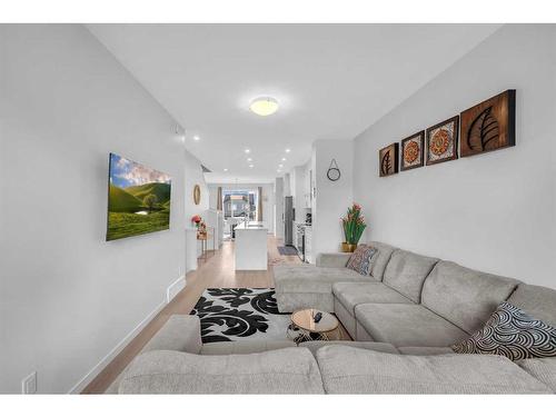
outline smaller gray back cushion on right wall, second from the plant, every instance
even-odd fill
[[[419,302],[423,282],[436,262],[436,258],[395,250],[386,266],[383,281],[410,300]]]

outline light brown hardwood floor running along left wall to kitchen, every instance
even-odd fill
[[[281,256],[277,246],[281,241],[268,236],[268,264],[265,271],[236,271],[234,242],[225,241],[221,249],[199,259],[198,269],[187,274],[183,288],[128,346],[83,389],[81,394],[102,394],[137,356],[150,338],[171,315],[188,315],[206,288],[267,288],[274,287],[272,265],[300,264],[297,256]],[[340,326],[340,338],[349,339]]]

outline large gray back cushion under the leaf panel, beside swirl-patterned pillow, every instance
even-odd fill
[[[421,304],[471,334],[484,326],[517,284],[443,260],[425,281]]]

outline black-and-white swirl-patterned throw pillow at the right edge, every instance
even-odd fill
[[[502,302],[485,327],[451,349],[457,354],[503,355],[512,360],[556,356],[556,328]]]

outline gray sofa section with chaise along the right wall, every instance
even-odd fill
[[[276,266],[278,309],[320,308],[335,312],[355,340],[411,347],[461,341],[505,300],[556,326],[556,290],[369,245],[378,249],[369,276],[346,268],[349,254],[320,254],[316,266]]]

